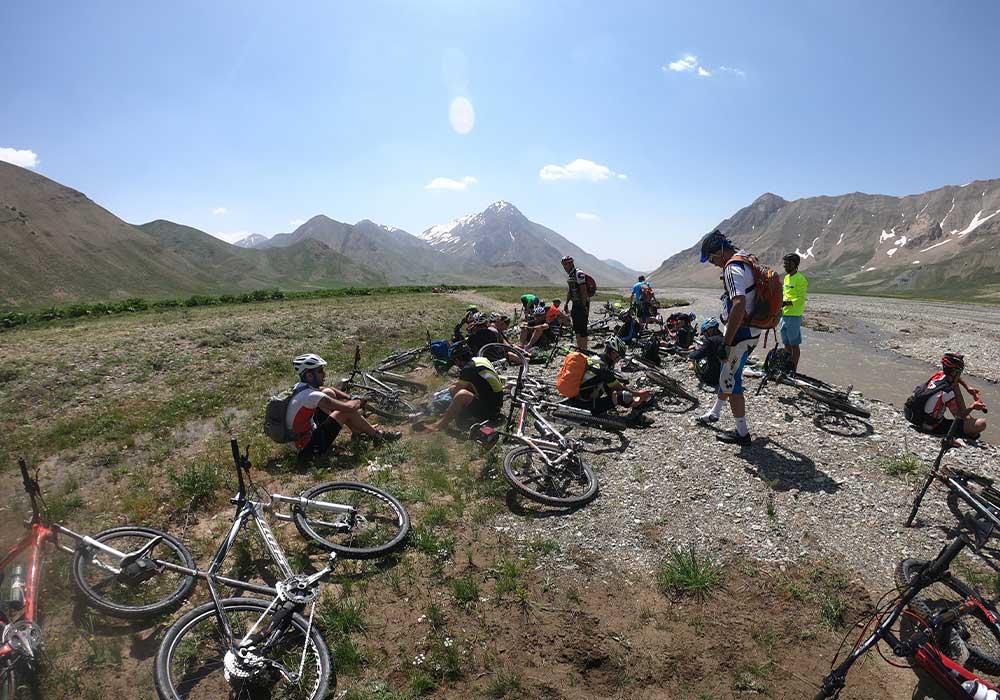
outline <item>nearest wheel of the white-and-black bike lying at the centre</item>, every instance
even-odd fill
[[[518,492],[538,503],[563,507],[582,506],[597,497],[597,475],[579,455],[563,456],[552,447],[541,450],[554,462],[551,467],[527,445],[504,455],[504,478]]]

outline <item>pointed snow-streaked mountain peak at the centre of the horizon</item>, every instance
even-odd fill
[[[553,283],[566,279],[559,261],[567,254],[601,287],[631,285],[638,275],[599,260],[552,229],[530,221],[508,202],[495,202],[478,214],[432,226],[420,237],[454,264],[520,268]]]

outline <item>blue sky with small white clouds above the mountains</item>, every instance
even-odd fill
[[[993,0],[6,0],[0,157],[229,239],[505,199],[648,270],[766,191],[1000,177],[997,26]]]

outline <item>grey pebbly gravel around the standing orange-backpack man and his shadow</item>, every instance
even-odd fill
[[[929,314],[919,316],[917,305],[887,308],[894,304],[824,297],[813,308],[870,314],[917,332],[921,324],[933,324]],[[776,562],[826,556],[856,571],[873,591],[891,582],[900,559],[933,557],[945,541],[944,527],[953,519],[939,489],[924,501],[922,525],[903,527],[921,478],[889,476],[885,462],[911,452],[930,465],[940,441],[912,430],[892,405],[860,397],[871,418],[844,418],[790,387],[769,384],[754,396],[757,380],[749,380],[754,442],[741,449],[693,423],[713,396],[699,392],[684,364],[668,360],[666,368],[701,397],[700,407],[661,401],[649,412],[652,427],[620,437],[577,429],[574,434],[587,439],[599,474],[597,500],[560,517],[523,517],[546,511],[522,503],[525,512],[503,517],[499,529],[524,539],[556,539],[567,566],[582,551],[638,572],[652,572],[675,546]],[[532,374],[541,374],[537,369],[533,366]],[[547,374],[554,377],[555,368]],[[730,427],[727,409],[720,428]],[[945,459],[995,475],[996,458],[997,449],[982,441],[952,450]]]

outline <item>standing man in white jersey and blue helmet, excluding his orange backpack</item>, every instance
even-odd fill
[[[722,365],[719,373],[719,396],[712,410],[698,416],[697,420],[703,425],[717,423],[728,401],[733,418],[736,419],[736,429],[715,437],[722,442],[742,447],[749,446],[751,441],[746,402],[743,399],[743,367],[750,353],[757,347],[760,337],[760,329],[746,323],[753,313],[757,298],[749,257],[747,251],[736,250],[733,242],[718,229],[705,236],[701,242],[701,261],[722,268],[722,313],[719,318],[725,324],[726,332],[719,350]]]

